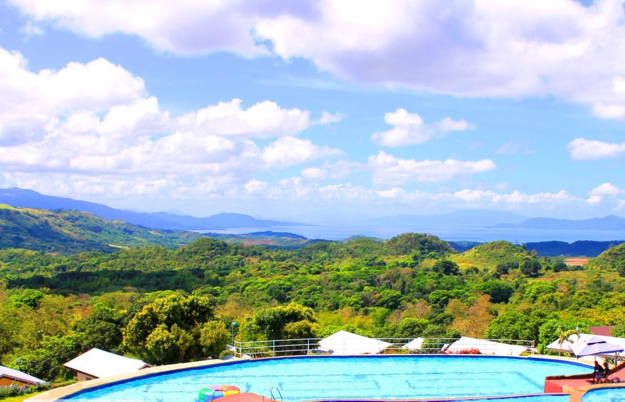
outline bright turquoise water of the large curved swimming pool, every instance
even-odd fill
[[[545,376],[589,370],[554,361],[487,356],[290,358],[242,361],[140,378],[70,400],[193,402],[201,388],[216,384],[236,385],[241,392],[257,394],[277,386],[284,400],[290,402],[518,395],[542,393]],[[533,402],[526,398],[519,401]],[[564,402],[561,398],[536,402],[547,401]]]

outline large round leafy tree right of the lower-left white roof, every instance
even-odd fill
[[[213,322],[206,297],[171,295],[154,300],[128,322],[123,344],[151,363],[168,364],[218,355],[224,350],[227,330]]]

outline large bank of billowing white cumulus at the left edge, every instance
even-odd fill
[[[233,99],[173,118],[143,79],[105,59],[32,72],[21,54],[0,48],[0,78],[3,172],[247,180],[257,170],[340,154],[292,137],[321,123],[271,101],[246,108]],[[264,148],[254,142],[272,137],[279,140]]]

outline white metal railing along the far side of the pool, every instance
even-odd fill
[[[534,353],[533,340],[517,339],[462,339],[461,338],[372,338],[377,341],[358,343],[353,338],[328,340],[323,338],[281,339],[267,341],[234,341],[231,351],[237,357],[272,357],[297,355],[381,355],[389,353],[428,353],[428,354],[479,354],[519,355],[525,348]],[[496,345],[491,342],[505,343]],[[477,350],[477,351],[476,351]]]

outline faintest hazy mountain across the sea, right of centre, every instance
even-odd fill
[[[497,210],[465,209],[438,215],[397,215],[394,217],[373,218],[374,223],[384,225],[467,225],[491,226],[501,222],[521,223],[527,217],[514,212]]]

